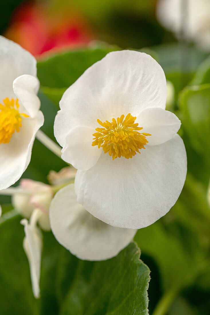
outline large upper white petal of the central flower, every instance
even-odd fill
[[[166,78],[148,54],[134,50],[111,52],[88,68],[64,93],[55,117],[56,140],[64,146],[77,126],[95,129],[97,119],[122,114],[137,116],[143,109],[166,106]]]

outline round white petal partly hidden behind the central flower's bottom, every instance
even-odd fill
[[[55,194],[50,225],[61,245],[78,258],[91,261],[116,256],[136,234],[136,230],[110,226],[92,216],[77,203],[73,184]]]

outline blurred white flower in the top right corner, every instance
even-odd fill
[[[195,42],[201,49],[210,50],[209,0],[159,0],[157,18],[180,38]]]

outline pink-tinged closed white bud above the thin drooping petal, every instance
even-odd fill
[[[43,230],[50,231],[49,207],[54,195],[51,187],[35,180],[22,179],[20,188],[24,192],[12,195],[12,205],[15,210],[29,219],[32,212],[39,209],[38,224]]]

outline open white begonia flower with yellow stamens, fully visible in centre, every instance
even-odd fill
[[[176,134],[181,123],[165,106],[162,68],[130,50],[107,54],[62,96],[55,137],[78,169],[77,201],[99,220],[142,228],[178,199],[186,151]]]

